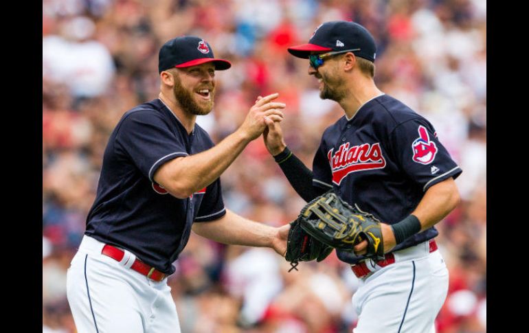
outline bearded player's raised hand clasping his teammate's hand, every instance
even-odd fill
[[[245,121],[239,127],[240,133],[242,133],[249,140],[254,140],[261,135],[265,128],[267,128],[266,119],[273,122],[280,122],[284,115],[282,109],[286,107],[286,104],[280,102],[272,102],[278,98],[278,93],[258,98],[254,106],[250,108]]]

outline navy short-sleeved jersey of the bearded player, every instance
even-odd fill
[[[179,199],[153,176],[167,161],[213,146],[196,124],[188,135],[161,100],[127,111],[106,145],[85,234],[128,249],[159,271],[174,273],[172,262],[187,244],[193,222],[216,220],[226,213],[221,181]]]

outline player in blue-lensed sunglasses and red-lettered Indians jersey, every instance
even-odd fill
[[[376,87],[375,42],[364,27],[327,22],[307,44],[288,50],[309,59],[320,97],[335,100],[345,115],[324,131],[312,171],[286,148],[273,122],[264,136],[269,152],[304,200],[332,189],[383,222],[384,260],[366,260],[365,240],[354,255],[337,250],[360,280],[353,332],[435,332],[448,271],[434,225],[458,205],[454,179],[462,170],[427,119]]]

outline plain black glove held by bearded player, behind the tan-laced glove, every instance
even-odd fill
[[[286,254],[284,258],[290,262],[289,272],[295,269],[299,262],[310,262],[316,260],[321,262],[331,252],[333,248],[308,235],[300,226],[300,222],[295,220],[290,223],[289,238],[286,240]]]

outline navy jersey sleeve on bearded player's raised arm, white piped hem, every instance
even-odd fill
[[[116,147],[124,150],[153,183],[162,164],[188,155],[183,139],[170,130],[163,118],[149,111],[126,115],[116,135]]]

